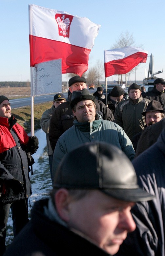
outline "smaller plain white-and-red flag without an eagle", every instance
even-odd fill
[[[134,46],[104,50],[105,77],[128,73],[140,62],[146,62],[147,55],[147,51]]]

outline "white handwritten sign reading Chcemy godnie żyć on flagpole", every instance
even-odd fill
[[[62,92],[61,59],[42,62],[33,67],[33,96]]]

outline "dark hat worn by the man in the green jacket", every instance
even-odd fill
[[[75,104],[77,104],[77,102],[81,100],[92,100],[95,103],[95,97],[90,94],[88,89],[84,88],[82,90],[72,92],[72,98],[70,102],[71,109],[74,107]]]

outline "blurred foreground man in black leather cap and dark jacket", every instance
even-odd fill
[[[31,221],[4,256],[114,255],[135,229],[131,208],[153,198],[139,188],[121,150],[83,144],[63,158],[51,197],[34,204]]]

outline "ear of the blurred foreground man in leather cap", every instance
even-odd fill
[[[69,192],[65,188],[60,188],[54,195],[56,210],[58,215],[65,222],[69,221],[68,206],[69,206]]]

